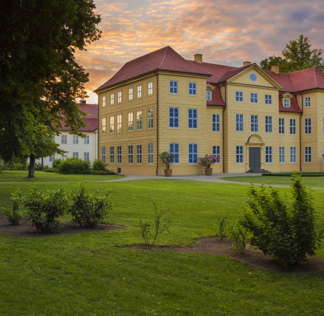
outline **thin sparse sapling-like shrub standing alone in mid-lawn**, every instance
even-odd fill
[[[156,202],[151,201],[151,203],[155,211],[155,219],[153,224],[149,224],[147,222],[144,223],[141,219],[139,220],[141,236],[143,237],[144,244],[148,249],[152,249],[156,238],[164,231],[168,230],[168,225],[170,223],[169,219],[163,219],[168,210],[158,209]]]

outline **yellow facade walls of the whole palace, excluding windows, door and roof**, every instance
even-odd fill
[[[251,81],[255,73],[257,79]],[[158,76],[158,77],[157,77]],[[178,82],[177,93],[170,93],[170,80]],[[197,94],[189,95],[189,82],[196,83]],[[152,93],[149,94],[149,84]],[[141,85],[141,96],[137,97],[137,87]],[[133,88],[133,99],[129,89]],[[279,86],[257,68],[252,68],[220,87],[226,106],[206,106],[206,78],[199,75],[167,73],[143,76],[120,86],[108,88],[98,93],[99,99],[99,144],[98,155],[102,158],[105,148],[105,161],[108,168],[122,173],[163,175],[164,165],[158,153],[169,151],[170,143],[179,144],[179,163],[171,168],[173,175],[203,174],[199,163],[189,163],[188,146],[197,144],[198,157],[212,154],[213,146],[220,147],[221,162],[213,165],[214,172],[236,173],[250,169],[250,148],[260,148],[260,168],[278,171],[324,171],[324,93],[311,91],[297,95],[303,110],[300,113],[279,111]],[[121,102],[118,92],[121,91]],[[236,100],[236,91],[242,93],[242,101]],[[110,104],[111,94],[114,104]],[[251,102],[251,93],[258,96]],[[265,96],[271,95],[272,103],[267,104]],[[305,97],[311,97],[311,106],[305,108]],[[105,106],[103,104],[105,97]],[[170,108],[179,110],[179,126],[170,127]],[[188,127],[188,111],[197,110],[197,128]],[[153,111],[153,126],[149,126],[148,111]],[[142,124],[137,128],[137,112],[141,111]],[[129,114],[133,114],[133,130],[129,130]],[[122,116],[122,129],[117,132],[117,116]],[[220,117],[220,130],[212,130],[212,116]],[[243,115],[243,129],[236,130],[236,115]],[[251,118],[257,116],[258,130],[252,130]],[[106,119],[106,132],[103,132],[102,118]],[[110,130],[110,118],[114,118]],[[271,130],[266,126],[266,118],[271,118]],[[312,118],[312,133],[305,134],[305,118]],[[284,120],[284,131],[279,133],[279,119]],[[296,133],[290,132],[290,119],[296,122]],[[269,123],[269,121],[268,121]],[[267,130],[268,128],[268,130]],[[224,133],[223,133],[224,132]],[[148,146],[153,145],[153,156],[149,159]],[[129,146],[133,146],[133,162],[129,162]],[[138,161],[137,148],[141,146],[141,161]],[[237,146],[242,146],[242,161],[237,161]],[[118,161],[117,147],[121,147],[121,161]],[[305,147],[312,148],[312,161],[306,162]],[[113,148],[113,155],[110,155]],[[269,152],[271,148],[271,161]],[[268,161],[267,161],[268,159]]]

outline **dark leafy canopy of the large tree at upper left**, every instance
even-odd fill
[[[99,39],[100,17],[93,0],[0,0],[0,6],[0,156],[8,160],[29,150],[31,116],[53,132],[64,116],[80,133],[83,113],[75,100],[86,97],[89,74],[74,54]]]

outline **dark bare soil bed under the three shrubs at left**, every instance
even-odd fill
[[[55,233],[38,233],[37,229],[28,221],[22,221],[20,225],[10,225],[6,215],[0,215],[0,234],[11,237],[46,237],[56,235],[71,235],[80,233],[93,233],[101,231],[111,231],[123,229],[122,226],[116,225],[99,225],[95,228],[80,227],[71,222],[61,222],[60,228]]]

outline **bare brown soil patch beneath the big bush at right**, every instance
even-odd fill
[[[143,246],[140,248],[143,248]],[[237,252],[231,248],[230,241],[220,242],[217,237],[201,238],[194,244],[186,247],[156,246],[153,249],[161,251],[201,252],[220,255],[235,258],[238,261],[247,263],[254,267],[283,274],[308,274],[324,271],[324,259],[321,258],[309,258],[307,261],[301,262],[299,265],[292,266],[289,271],[285,271],[278,263],[271,260],[271,256],[264,255],[261,251],[251,249],[249,245],[247,246],[245,253],[239,256]]]

